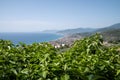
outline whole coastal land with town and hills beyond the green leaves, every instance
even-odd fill
[[[67,36],[61,39],[58,39],[56,42],[65,43],[67,45],[71,45],[75,40],[82,39],[84,37],[90,36],[95,33],[102,34],[104,41],[120,42],[120,23],[107,26],[104,28],[96,29],[96,30],[78,28],[78,29],[69,29],[69,30],[59,31],[59,33],[67,34]]]

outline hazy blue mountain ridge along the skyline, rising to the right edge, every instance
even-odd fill
[[[75,34],[75,33],[96,33],[96,32],[103,32],[113,29],[120,29],[120,23],[116,23],[107,27],[103,28],[74,28],[74,29],[65,29],[57,31],[60,34]]]

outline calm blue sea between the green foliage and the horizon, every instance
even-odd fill
[[[62,37],[55,33],[0,33],[0,39],[10,40],[14,44],[19,42],[32,44],[35,42],[49,42]]]

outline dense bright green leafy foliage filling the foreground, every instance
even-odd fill
[[[58,52],[46,42],[0,40],[0,80],[120,80],[120,52],[104,46],[99,34]]]

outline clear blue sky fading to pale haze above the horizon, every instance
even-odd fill
[[[0,0],[0,32],[102,28],[120,23],[120,0]]]

